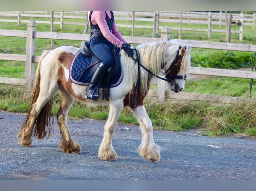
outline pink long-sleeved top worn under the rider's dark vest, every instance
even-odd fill
[[[111,12],[106,11],[108,17],[111,19]],[[91,15],[91,21],[93,25],[98,25],[103,36],[110,41],[112,44],[121,48],[122,44],[126,43],[121,33],[118,31],[116,22],[114,20],[112,33],[110,32],[107,22],[106,22],[106,13],[105,11],[93,11]]]

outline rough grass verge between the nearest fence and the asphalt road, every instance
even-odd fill
[[[205,80],[203,82],[205,83]],[[197,84],[199,87],[204,87],[202,82],[197,82]],[[189,83],[186,84],[186,87],[189,89]],[[197,89],[195,91],[198,92]],[[220,89],[216,91],[216,94],[221,94],[221,92]],[[25,113],[28,108],[29,96],[30,93],[24,86],[0,84],[0,110]],[[58,93],[54,95],[53,101],[53,114],[55,114],[60,103]],[[168,131],[199,129],[208,136],[242,132],[256,136],[255,96],[251,99],[241,98],[233,104],[178,99],[169,99],[166,103],[160,104],[156,103],[153,98],[146,97],[145,107],[154,129]],[[90,107],[80,101],[75,101],[69,116],[106,120],[108,111],[107,106]],[[119,121],[138,125],[136,117],[127,108],[122,110]]]

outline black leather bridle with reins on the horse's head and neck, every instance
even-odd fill
[[[142,67],[144,70],[146,70],[149,74],[155,76],[156,78],[159,78],[161,80],[164,80],[166,82],[169,82],[171,83],[172,85],[176,84],[176,79],[184,79],[186,80],[186,75],[175,75],[176,74],[176,71],[177,71],[177,65],[179,62],[182,61],[182,58],[179,57],[179,51],[180,51],[181,47],[179,47],[179,49],[177,50],[177,54],[176,54],[176,57],[174,58],[174,60],[172,61],[170,67],[165,71],[165,78],[161,78],[160,76],[157,76],[156,74],[152,73],[150,70],[146,69],[141,63],[140,63],[140,54],[139,52],[137,51],[137,49],[134,49],[135,53],[136,53],[136,57],[137,58],[134,58],[133,56],[131,57],[135,63],[137,62],[138,64],[138,79],[137,79],[137,83],[135,85],[135,91],[137,91],[137,88],[140,88],[140,67]],[[166,63],[165,63],[166,64]],[[164,65],[165,65],[164,64]],[[171,73],[171,68],[172,66],[174,65],[174,73],[173,75],[170,75]],[[134,96],[135,96],[135,93],[133,94],[132,96],[132,104],[134,106],[137,105],[137,102],[138,102],[138,99],[139,99],[139,91],[138,91],[138,94],[137,94],[137,97],[136,97],[136,100],[134,102]]]

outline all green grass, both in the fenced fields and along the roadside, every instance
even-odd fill
[[[57,21],[57,20],[56,20]],[[66,22],[71,22],[66,21]],[[73,20],[73,22],[79,22]],[[131,21],[118,21],[122,24],[131,24]],[[120,24],[121,24],[120,23]],[[152,23],[136,22],[135,25],[152,25]],[[163,26],[178,27],[178,23],[162,23]],[[182,24],[184,28],[207,28],[207,25],[187,25]],[[22,23],[17,26],[16,23],[0,22],[1,29],[8,30],[26,30],[26,24]],[[224,26],[213,26],[212,28],[224,29]],[[237,29],[236,29],[237,30]],[[50,31],[50,25],[37,24],[36,31]],[[119,28],[123,36],[131,36],[131,28]],[[54,25],[54,32],[66,33],[84,33],[84,26],[63,25],[59,29]],[[158,31],[160,34],[160,30]],[[151,37],[152,29],[135,29],[135,36]],[[254,35],[254,36],[253,36]],[[178,38],[178,31],[171,30],[170,37]],[[212,38],[208,39],[207,32],[182,31],[182,39],[204,40],[215,42],[226,42],[226,34],[212,33]],[[160,35],[157,36],[160,38]],[[0,53],[6,54],[25,54],[26,39],[18,37],[1,37],[0,36]],[[256,44],[255,31],[252,26],[244,26],[244,39],[240,42],[234,33],[231,35],[231,43]],[[80,47],[80,41],[71,40],[54,40],[54,47],[62,45],[71,45]],[[43,50],[49,50],[50,40],[36,39],[35,55],[39,56]],[[209,58],[209,54],[217,50],[193,49],[191,57],[199,55]],[[35,63],[35,69],[37,63]],[[17,61],[0,61],[0,76],[10,78],[25,78],[25,63]],[[152,88],[157,88],[152,85]],[[152,121],[154,129],[168,131],[182,131],[189,129],[198,129],[202,135],[219,136],[234,133],[247,133],[250,136],[256,136],[256,99],[255,85],[253,85],[253,97],[248,99],[250,88],[249,79],[211,77],[201,80],[187,81],[184,92],[238,96],[241,97],[237,102],[232,104],[200,102],[191,100],[169,99],[164,104],[157,103],[153,98],[146,97],[145,108]],[[24,86],[14,86],[0,84],[0,110],[10,112],[27,111],[29,104],[30,92]],[[58,110],[60,96],[56,93],[53,97],[53,113]],[[90,107],[80,101],[75,101],[70,109],[69,116],[74,118],[92,118],[95,120],[106,120],[109,109],[107,106]],[[118,119],[123,123],[138,125],[134,114],[127,108],[124,108]]]

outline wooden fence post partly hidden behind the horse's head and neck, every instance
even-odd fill
[[[168,41],[170,37],[170,28],[164,26],[161,29],[161,41]],[[164,75],[161,73],[159,75],[161,78],[164,78]],[[165,88],[166,88],[166,81],[158,80],[158,102],[163,103],[165,99]]]

